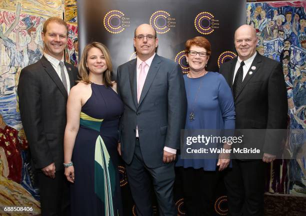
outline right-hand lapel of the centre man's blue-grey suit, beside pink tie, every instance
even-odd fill
[[[142,102],[143,98],[145,97],[147,91],[149,90],[155,76],[156,76],[156,73],[159,69],[159,66],[160,66],[160,57],[155,54],[153,60],[152,60],[152,63],[150,65],[150,68],[147,72],[147,75],[146,75],[146,78],[145,78],[145,81],[144,81],[144,84],[143,84],[143,88],[142,88],[142,91],[141,91],[141,95],[140,95],[140,98],[139,98],[139,102],[138,102],[138,106],[140,105],[140,103]]]

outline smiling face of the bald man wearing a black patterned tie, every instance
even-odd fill
[[[235,31],[235,48],[241,60],[251,57],[256,51],[256,30],[249,25],[241,25]]]

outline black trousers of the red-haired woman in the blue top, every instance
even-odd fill
[[[186,216],[215,215],[213,204],[223,172],[192,167],[178,167],[177,171],[181,181]]]

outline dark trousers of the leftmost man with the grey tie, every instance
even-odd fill
[[[42,216],[70,216],[69,184],[64,170],[55,172],[52,179],[41,170],[36,171]]]

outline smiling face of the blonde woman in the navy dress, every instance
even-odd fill
[[[102,51],[97,47],[88,50],[86,66],[89,73],[102,74],[107,69],[107,64]]]

